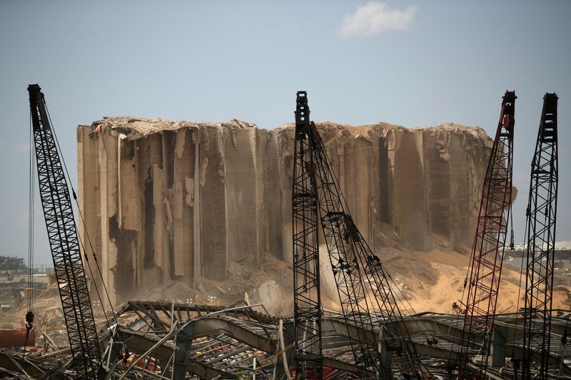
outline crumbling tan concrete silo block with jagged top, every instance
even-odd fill
[[[413,250],[471,244],[491,146],[483,130],[318,130],[371,245],[383,222]],[[228,260],[260,252],[291,262],[293,125],[103,118],[77,138],[80,233],[114,300],[172,279],[223,279]]]

